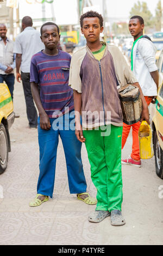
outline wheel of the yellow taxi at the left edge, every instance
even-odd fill
[[[8,136],[3,124],[0,124],[0,174],[8,165],[9,143]]]

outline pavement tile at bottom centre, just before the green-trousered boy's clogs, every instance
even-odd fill
[[[96,245],[99,235],[86,212],[71,211],[67,217],[58,214],[46,245]]]

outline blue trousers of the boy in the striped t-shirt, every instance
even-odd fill
[[[65,152],[70,193],[77,194],[86,192],[87,186],[81,159],[82,143],[76,138],[75,131],[68,129],[70,123],[73,123],[74,120],[74,111],[73,114],[72,112],[70,113],[71,117],[68,113],[58,119],[50,118],[52,127],[51,130],[48,131],[41,129],[40,117],[38,118],[40,147],[40,175],[37,183],[38,194],[53,197],[59,136]],[[68,120],[69,117],[70,119]],[[58,129],[56,129],[57,120],[60,121]],[[60,157],[63,158],[61,155]]]

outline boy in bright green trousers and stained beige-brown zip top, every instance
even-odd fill
[[[111,215],[112,225],[124,225],[121,213],[123,115],[117,86],[127,83],[140,86],[120,50],[100,41],[103,17],[88,11],[80,17],[80,25],[87,45],[72,56],[69,84],[74,89],[76,136],[85,142],[91,178],[97,188],[97,207],[89,221],[101,222]],[[141,89],[140,94],[141,120],[148,121],[148,107]]]

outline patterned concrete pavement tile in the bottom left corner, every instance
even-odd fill
[[[1,214],[0,217],[2,218]],[[3,228],[0,234],[0,244],[45,245],[54,219],[55,214],[51,212],[8,214],[7,219],[3,217],[3,223],[0,224],[1,230]]]

